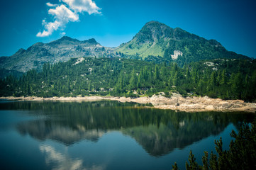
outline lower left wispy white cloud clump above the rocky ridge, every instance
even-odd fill
[[[69,21],[79,21],[79,16],[77,13],[72,12],[63,4],[57,6],[56,8],[50,8],[48,13],[51,16],[54,16],[55,21],[48,23],[44,19],[42,25],[45,27],[45,30],[43,30],[43,32],[39,32],[36,35],[37,37],[49,36],[53,33],[53,31],[65,27]]]

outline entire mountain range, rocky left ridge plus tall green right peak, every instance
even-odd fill
[[[30,69],[40,70],[45,62],[67,62],[77,57],[125,57],[158,63],[174,61],[179,66],[218,58],[250,59],[229,52],[216,40],[206,40],[181,28],[151,21],[132,40],[116,48],[103,47],[94,38],[80,41],[67,36],[49,43],[35,43],[10,57],[0,57],[0,69],[4,70],[0,78],[11,73],[20,75]]]

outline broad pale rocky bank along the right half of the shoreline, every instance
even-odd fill
[[[171,98],[165,96],[153,95],[152,97],[140,98],[115,98],[114,100],[121,102],[151,103],[155,108],[170,109],[178,111],[256,111],[256,103],[245,103],[242,100],[222,100],[221,98],[204,97],[187,97],[184,98],[180,94],[173,93]]]

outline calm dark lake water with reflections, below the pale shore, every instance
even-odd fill
[[[144,105],[145,106],[145,105]],[[0,102],[0,169],[185,169],[251,113],[185,113],[137,103]]]

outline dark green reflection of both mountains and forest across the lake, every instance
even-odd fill
[[[119,131],[133,137],[148,154],[159,157],[182,149],[227,125],[236,128],[253,119],[250,114],[185,113],[146,108],[118,101],[94,102],[13,102],[1,103],[1,110],[25,110],[36,119],[16,126],[21,135],[37,140],[55,140],[72,145],[81,140],[97,142],[106,132]],[[230,116],[232,115],[232,116]],[[50,147],[40,147],[51,153]],[[79,160],[76,161],[79,165]]]

